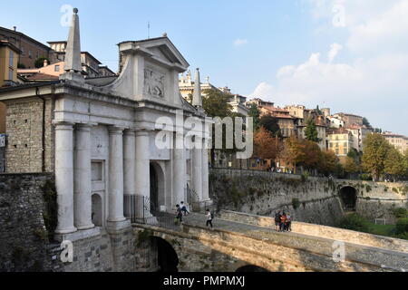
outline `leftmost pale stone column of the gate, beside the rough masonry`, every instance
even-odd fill
[[[73,123],[55,124],[55,186],[58,226],[55,234],[76,231],[73,227]]]

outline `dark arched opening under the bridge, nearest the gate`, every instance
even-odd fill
[[[160,237],[151,237],[152,244],[157,248],[157,261],[160,273],[179,272],[179,256],[169,242]]]

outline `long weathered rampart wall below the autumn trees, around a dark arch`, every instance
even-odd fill
[[[210,196],[220,209],[272,217],[287,209],[297,221],[335,226],[344,217],[340,190],[353,187],[356,211],[365,218],[386,218],[394,224],[393,208],[406,208],[408,185],[370,181],[308,178],[266,171],[211,169]]]

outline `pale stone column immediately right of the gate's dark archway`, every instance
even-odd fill
[[[172,206],[180,204],[184,200],[184,191],[186,187],[186,159],[184,157],[184,135],[183,132],[174,132],[174,150],[173,150],[173,198]]]

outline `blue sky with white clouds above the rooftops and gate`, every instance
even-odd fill
[[[408,136],[408,0],[20,0],[0,26],[66,40],[67,7],[79,9],[82,50],[115,72],[116,44],[148,38],[150,23],[216,86]]]

